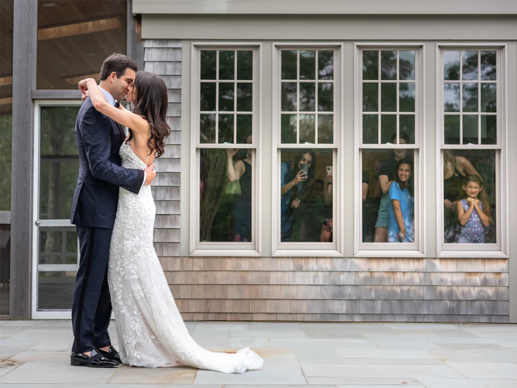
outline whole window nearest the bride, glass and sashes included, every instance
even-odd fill
[[[191,252],[256,253],[258,47],[193,47]],[[194,181],[194,180],[193,180]],[[234,253],[232,253],[234,254]]]

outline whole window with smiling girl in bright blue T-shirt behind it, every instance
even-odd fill
[[[422,46],[356,49],[356,255],[421,256]]]

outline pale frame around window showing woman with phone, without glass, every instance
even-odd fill
[[[302,243],[280,242],[280,152],[287,148],[306,148],[306,144],[281,144],[281,51],[282,50],[334,50],[334,136],[332,144],[311,144],[313,149],[336,150],[333,156],[333,242],[332,243]],[[272,171],[271,174],[271,256],[273,257],[342,257],[343,236],[343,171],[342,149],[344,141],[343,121],[343,55],[342,42],[272,42]],[[317,68],[317,63],[316,63]],[[317,83],[317,80],[315,81]],[[317,89],[317,88],[316,88]],[[298,108],[299,109],[299,108]]]

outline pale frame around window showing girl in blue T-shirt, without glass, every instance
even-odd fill
[[[362,150],[385,150],[384,144],[362,144],[362,50],[415,51],[415,144],[398,148],[415,150],[415,243],[362,242]],[[380,71],[380,69],[379,69]],[[397,76],[398,77],[398,76]],[[397,96],[398,97],[398,96]],[[380,103],[380,102],[379,102]],[[379,107],[380,109],[380,107]],[[418,126],[418,129],[417,129]],[[354,257],[425,257],[425,43],[354,43]]]

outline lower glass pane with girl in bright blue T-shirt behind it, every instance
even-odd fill
[[[414,151],[362,150],[361,186],[362,242],[415,242]]]

